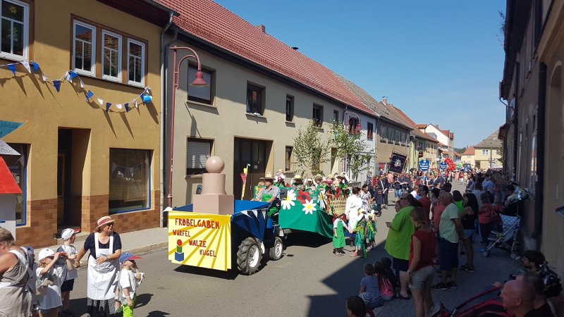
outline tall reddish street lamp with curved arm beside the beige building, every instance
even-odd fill
[[[187,58],[194,58],[197,63],[198,63],[198,70],[196,72],[196,79],[190,83],[190,86],[195,86],[195,87],[205,87],[207,86],[207,82],[204,80],[204,73],[202,73],[202,64],[200,63],[200,57],[198,57],[198,54],[193,50],[190,49],[190,47],[178,47],[178,46],[172,46],[171,50],[173,51],[173,69],[174,69],[174,73],[173,73],[173,85],[172,85],[172,95],[171,95],[171,99],[172,99],[172,113],[171,113],[171,162],[170,162],[170,170],[168,173],[168,207],[172,208],[172,166],[173,166],[173,154],[174,154],[174,109],[176,109],[176,90],[178,90],[178,88],[180,87],[179,85],[179,77],[180,77],[180,65],[182,65],[182,62],[185,61],[185,59]],[[180,61],[178,62],[178,64],[176,63],[176,54],[178,52],[178,50],[187,50],[190,51],[192,54],[190,55],[186,55],[183,56],[183,58],[180,58]]]

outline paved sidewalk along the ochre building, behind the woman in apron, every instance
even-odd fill
[[[152,228],[126,233],[121,233],[119,232],[119,230],[116,230],[116,232],[118,232],[119,236],[121,237],[122,253],[130,252],[132,254],[139,254],[154,249],[164,248],[168,244],[168,228]],[[77,235],[74,246],[78,251],[80,251],[80,249],[82,248],[87,236],[88,233],[86,232],[80,232]],[[59,241],[61,241],[62,244],[62,240],[59,239]],[[61,244],[57,244],[49,248],[56,251],[56,249],[58,249]],[[40,249],[43,248],[35,249],[35,259],[37,259]],[[85,265],[85,261],[87,261],[87,256],[82,259],[81,265]]]

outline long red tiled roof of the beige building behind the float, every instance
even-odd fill
[[[180,13],[174,23],[185,32],[285,75],[322,94],[373,114],[329,68],[292,49],[212,0],[158,0]]]

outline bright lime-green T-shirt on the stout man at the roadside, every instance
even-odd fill
[[[398,211],[393,217],[390,229],[388,230],[388,238],[386,239],[386,247],[388,254],[394,258],[409,260],[410,259],[410,242],[415,225],[411,222],[410,212],[413,206],[407,206]]]

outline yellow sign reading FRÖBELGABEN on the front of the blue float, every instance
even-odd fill
[[[199,268],[230,269],[231,216],[168,213],[168,259]]]

